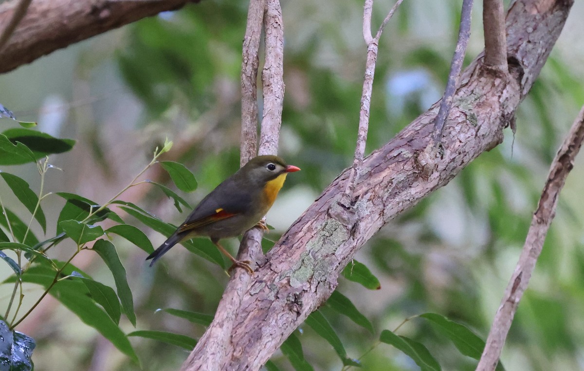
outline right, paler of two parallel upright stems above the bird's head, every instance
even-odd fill
[[[279,0],[267,0],[264,15],[266,60],[262,71],[263,118],[260,155],[278,153],[284,107],[284,28]]]

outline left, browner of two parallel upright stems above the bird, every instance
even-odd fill
[[[241,61],[241,165],[258,146],[258,51],[266,0],[251,0]]]

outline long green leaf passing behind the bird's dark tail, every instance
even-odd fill
[[[152,228],[153,230],[161,233],[165,237],[168,237],[176,230],[176,227],[172,224],[165,223],[164,221],[158,219],[152,214],[141,213],[140,211],[130,209],[129,207],[121,206],[120,209],[126,211],[126,213],[130,214],[131,216],[135,217],[136,219],[140,220],[146,226]],[[208,238],[197,238],[197,243],[193,244],[190,240],[181,241],[182,244],[187,250],[193,252],[201,256],[201,258],[207,259],[210,262],[213,262],[219,265],[221,268],[225,269],[225,260],[223,259],[223,255],[221,252],[208,240]]]

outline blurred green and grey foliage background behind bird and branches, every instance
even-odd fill
[[[374,25],[391,5],[376,2]],[[460,5],[461,1],[406,1],[388,24],[380,42],[368,151],[387,143],[440,98],[456,44]],[[50,157],[62,171],[48,174],[45,189],[104,202],[150,162],[152,151],[167,136],[175,146],[165,159],[185,164],[199,182],[196,192],[182,194],[189,202],[196,203],[232,174],[239,164],[239,81],[247,6],[239,0],[204,0],[0,75],[0,103],[19,120],[37,121],[40,131],[78,141],[71,152]],[[351,164],[366,57],[362,2],[285,0],[282,7],[286,99],[279,154],[303,171],[288,177],[270,210],[267,222],[276,231],[267,238],[274,241]],[[481,4],[475,4],[468,61],[483,47],[481,12]],[[482,154],[449,185],[389,223],[361,249],[357,259],[380,279],[381,289],[370,291],[339,279],[339,292],[376,330],[370,334],[323,308],[351,358],[375,345],[381,330],[394,330],[405,318],[429,311],[467,324],[486,338],[550,162],[584,103],[584,27],[579,22],[583,14],[584,4],[576,2],[540,78],[517,112],[515,138],[507,129],[502,145]],[[16,125],[9,119],[0,119],[0,124]],[[507,370],[584,368],[583,165],[578,160],[568,177],[530,289],[517,311],[502,354]],[[33,165],[2,170],[39,189]],[[157,167],[146,176],[173,188]],[[26,215],[4,182],[0,192],[3,202]],[[148,185],[134,187],[121,198],[172,223],[182,221],[188,212],[179,214],[171,200]],[[57,196],[43,203],[51,233],[56,217],[50,216],[58,214],[63,203]],[[164,241],[137,221],[134,225],[155,246]],[[43,235],[40,228],[34,232]],[[225,244],[235,251],[238,241]],[[204,327],[156,310],[172,307],[213,314],[227,275],[183,248],[173,249],[148,268],[144,251],[123,240],[116,246],[134,293],[137,328],[199,338]],[[74,248],[62,244],[51,254],[62,259]],[[96,254],[84,252],[73,263],[113,285],[111,273]],[[2,266],[4,280],[11,271]],[[26,288],[23,307],[42,292],[40,286]],[[2,312],[11,292],[12,285],[0,286]],[[120,326],[134,330],[126,318]],[[301,328],[297,336],[314,369],[341,369],[331,346],[311,328]],[[36,340],[33,360],[39,370],[138,369],[50,297],[16,330]],[[476,366],[423,320],[408,321],[398,334],[425,344],[444,370]],[[188,354],[149,339],[131,338],[131,343],[146,370],[178,369]],[[292,369],[280,351],[272,360],[282,370]],[[403,353],[383,344],[361,362],[365,370],[418,369]]]

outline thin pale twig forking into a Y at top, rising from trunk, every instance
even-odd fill
[[[363,157],[365,155],[365,146],[367,144],[367,131],[369,131],[369,112],[371,106],[371,93],[373,92],[373,78],[375,75],[375,65],[377,62],[377,50],[381,33],[387,25],[387,22],[394,15],[398,6],[404,0],[398,0],[387,14],[383,23],[377,30],[375,37],[371,37],[371,8],[373,0],[366,0],[363,11],[363,37],[367,43],[367,61],[365,63],[365,76],[363,78],[363,92],[361,93],[361,109],[359,111],[359,129],[357,130],[357,144],[355,145],[355,154],[353,157],[353,170],[350,175],[347,188],[345,189],[344,203],[346,206],[353,203],[353,194],[356,179],[359,179]]]

